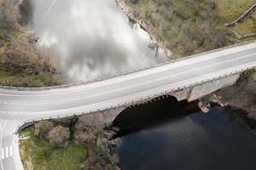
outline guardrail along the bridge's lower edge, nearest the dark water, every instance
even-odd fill
[[[213,81],[218,81],[218,80],[224,79],[226,77],[232,77],[232,76],[240,74],[243,71],[250,70],[252,68],[254,68],[254,67],[250,67],[250,68],[247,68],[247,69],[241,69],[241,70],[238,70],[238,71],[233,71],[233,72],[224,74],[222,76],[212,77],[212,78],[209,78],[209,79],[201,81],[201,82],[191,83],[188,86],[183,86],[183,87],[180,87],[180,88],[174,88],[172,90],[161,92],[159,94],[150,95],[150,96],[147,96],[145,98],[134,99],[134,100],[131,100],[129,102],[121,103],[121,104],[118,104],[118,105],[110,105],[108,107],[99,108],[97,110],[91,110],[91,111],[87,111],[87,112],[79,112],[79,113],[66,114],[66,115],[60,115],[60,116],[49,116],[49,117],[42,117],[42,118],[38,118],[38,119],[27,120],[25,122],[20,123],[20,125],[15,129],[15,133],[19,133],[19,131],[21,129],[23,129],[27,126],[30,126],[35,122],[45,121],[45,120],[56,120],[56,119],[61,119],[61,118],[73,117],[73,116],[81,116],[83,114],[96,113],[96,112],[100,112],[100,111],[110,111],[110,110],[117,109],[117,108],[124,107],[124,106],[129,107],[131,105],[137,105],[139,103],[142,103],[142,102],[145,102],[145,101],[148,101],[148,100],[151,100],[151,99],[159,98],[161,96],[170,95],[170,94],[176,93],[178,91],[181,91],[181,90],[184,90],[184,89],[187,89],[187,88],[193,88],[195,86],[200,86],[200,85],[205,84],[207,82],[213,82]]]

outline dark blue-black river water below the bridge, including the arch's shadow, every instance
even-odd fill
[[[125,110],[115,120],[124,170],[255,170],[256,135],[232,111],[208,114],[175,99]],[[125,118],[125,119],[124,119]],[[143,126],[141,126],[143,124]]]

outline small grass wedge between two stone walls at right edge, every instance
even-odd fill
[[[242,36],[247,34],[253,34],[256,32],[256,20],[253,20],[253,19],[243,20],[241,23],[234,26],[233,29],[234,31],[241,34]]]

